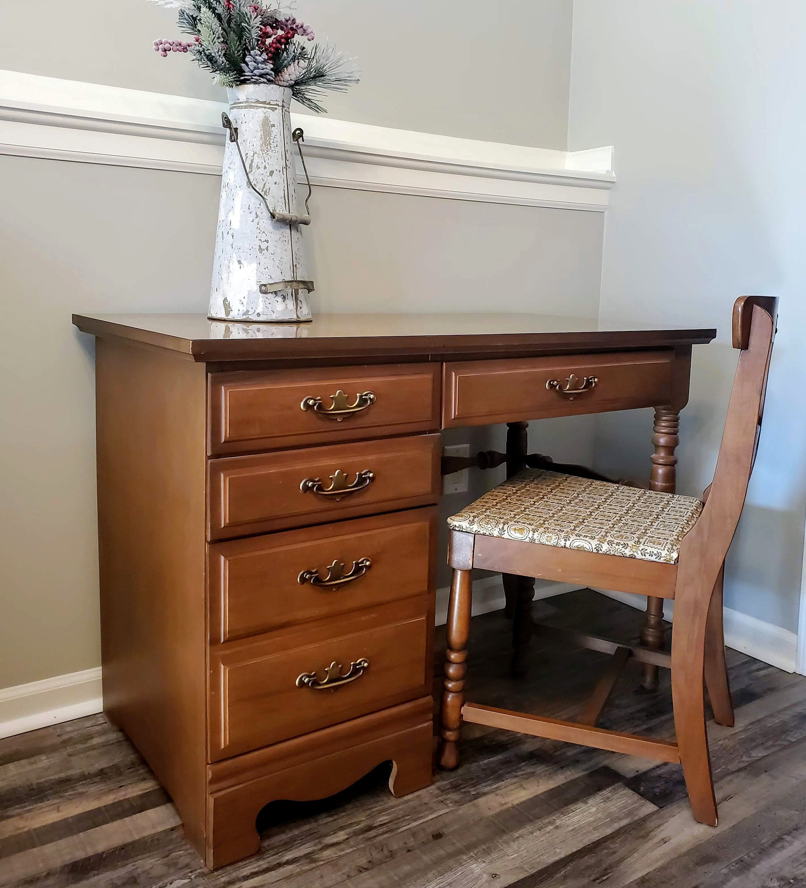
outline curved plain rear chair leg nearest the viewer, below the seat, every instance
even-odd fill
[[[695,596],[691,597],[696,598]],[[716,826],[716,797],[705,720],[705,604],[676,599],[672,632],[672,702],[680,764],[691,811],[699,823]]]

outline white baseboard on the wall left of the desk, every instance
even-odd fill
[[[95,715],[103,708],[100,667],[7,687],[0,690],[0,738]]]

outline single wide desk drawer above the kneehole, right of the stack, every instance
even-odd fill
[[[442,427],[661,407],[674,363],[672,350],[446,363]]]

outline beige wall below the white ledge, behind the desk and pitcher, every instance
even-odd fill
[[[0,156],[0,181],[2,688],[99,663],[93,340],[70,313],[205,311],[219,179]],[[314,209],[315,310],[597,311],[602,214],[328,188]]]

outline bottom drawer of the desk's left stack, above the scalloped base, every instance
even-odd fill
[[[212,648],[210,760],[430,694],[432,627],[430,599],[421,596]],[[305,675],[325,686],[307,686]]]

